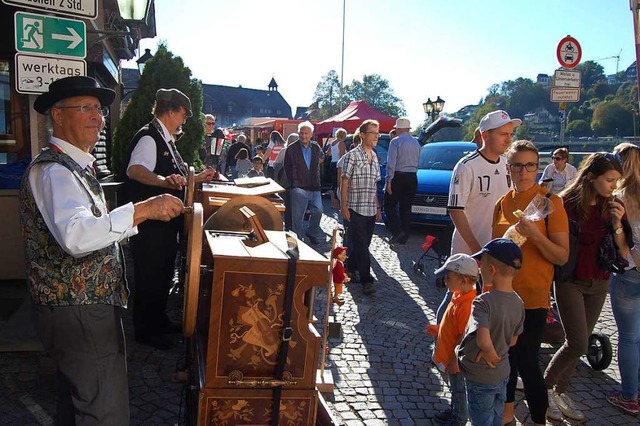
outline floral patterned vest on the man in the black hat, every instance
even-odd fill
[[[49,231],[33,198],[29,172],[37,163],[55,162],[69,169],[91,199],[96,217],[104,204],[100,183],[67,154],[45,148],[22,179],[20,218],[25,241],[29,292],[33,303],[47,306],[106,304],[126,307],[129,290],[124,279],[120,245],[113,243],[81,258],[65,252]]]

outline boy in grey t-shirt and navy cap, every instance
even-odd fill
[[[524,304],[512,281],[522,265],[522,251],[505,238],[489,241],[478,253],[486,293],[473,301],[471,317],[458,347],[460,370],[467,382],[473,425],[502,425],[509,379],[509,347],[524,324]]]

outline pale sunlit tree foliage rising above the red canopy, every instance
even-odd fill
[[[312,118],[324,120],[342,111],[349,102],[358,100],[393,117],[406,114],[404,104],[395,96],[387,79],[378,74],[364,75],[362,81],[353,80],[341,90],[338,74],[333,70],[316,86],[309,109]]]

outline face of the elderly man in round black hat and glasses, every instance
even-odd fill
[[[83,112],[82,106],[89,111]],[[53,136],[90,152],[100,139],[104,118],[100,115],[100,101],[93,96],[66,98],[62,107],[51,109]]]

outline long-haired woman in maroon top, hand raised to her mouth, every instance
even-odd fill
[[[609,292],[611,272],[599,262],[602,242],[611,235],[618,254],[626,256],[629,252],[622,225],[625,207],[613,197],[621,176],[619,157],[597,152],[582,162],[576,179],[560,193],[567,216],[578,224],[579,232],[573,278],[554,285],[565,342],[544,372],[550,390],[547,416],[552,419],[560,420],[563,415],[584,419],[567,388],[578,360],[587,352],[589,336]]]

